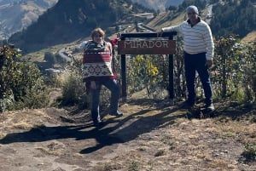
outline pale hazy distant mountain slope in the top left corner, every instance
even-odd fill
[[[0,39],[21,31],[58,0],[2,0],[0,1]]]

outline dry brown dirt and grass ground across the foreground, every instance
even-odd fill
[[[255,171],[256,106],[215,105],[216,117],[197,119],[165,101],[130,100],[120,105],[124,117],[106,115],[101,128],[88,111],[5,112],[0,170]]]

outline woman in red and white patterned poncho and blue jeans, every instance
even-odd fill
[[[84,47],[83,82],[86,91],[91,94],[91,118],[95,126],[102,125],[100,115],[100,93],[102,85],[111,92],[109,114],[122,117],[118,111],[119,84],[117,74],[113,69],[113,47],[104,41],[105,32],[96,28],[91,32],[91,41]]]

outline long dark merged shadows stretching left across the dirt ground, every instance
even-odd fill
[[[106,145],[125,143],[135,140],[138,135],[151,132],[155,128],[164,127],[166,124],[174,123],[177,117],[186,117],[185,114],[170,116],[178,108],[166,109],[153,116],[145,116],[148,111],[154,109],[138,111],[123,120],[109,118],[102,128],[87,125],[37,127],[26,132],[7,134],[0,140],[0,144],[11,144],[15,142],[43,142],[48,140],[59,140],[74,138],[75,140],[95,139],[97,145],[85,148],[80,153],[90,153],[97,151]],[[123,127],[122,127],[123,126]]]

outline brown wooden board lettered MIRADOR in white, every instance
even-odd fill
[[[121,40],[119,54],[176,54],[174,40]]]

